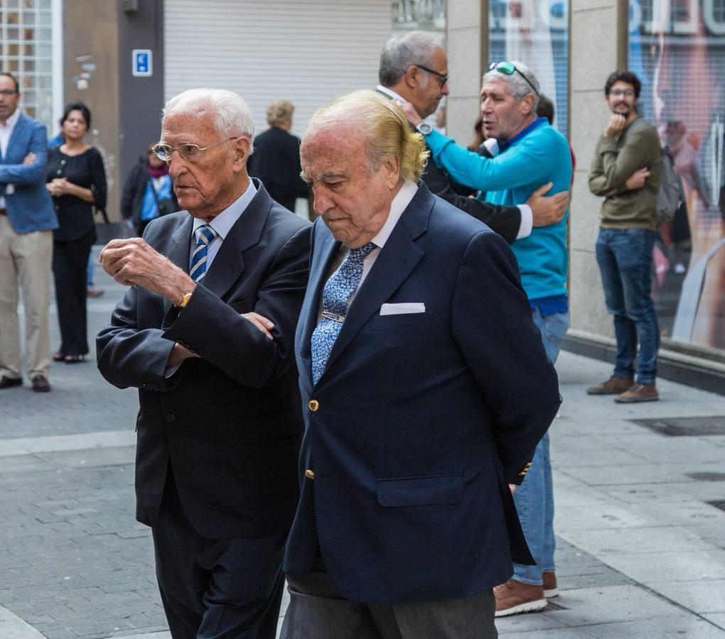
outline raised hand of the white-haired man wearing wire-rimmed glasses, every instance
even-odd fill
[[[110,241],[99,262],[117,283],[141,286],[172,304],[181,304],[183,296],[194,290],[194,280],[142,238]]]

